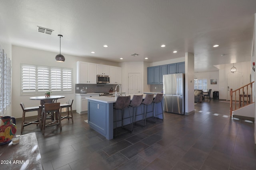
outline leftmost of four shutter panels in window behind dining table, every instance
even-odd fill
[[[22,67],[22,91],[36,91],[36,66],[23,65]]]

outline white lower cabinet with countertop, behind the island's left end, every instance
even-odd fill
[[[88,100],[86,97],[96,97],[99,96],[97,93],[93,94],[77,94],[76,95],[76,112],[79,114],[87,113],[88,111]]]

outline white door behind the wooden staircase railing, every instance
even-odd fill
[[[243,81],[243,74],[242,73],[228,73],[228,97],[227,99],[230,100],[230,89],[236,90],[244,85]],[[238,93],[236,93],[236,100],[239,99]],[[233,95],[234,100],[234,95]]]

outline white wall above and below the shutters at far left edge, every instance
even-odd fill
[[[4,53],[6,53],[6,56],[12,60],[12,45],[10,42],[10,38],[7,34],[6,27],[4,25],[4,22],[2,21],[1,15],[0,15],[0,47],[1,49],[4,49]],[[12,85],[12,82],[11,82]],[[7,108],[6,112],[4,112],[1,116],[11,116],[12,115],[12,103],[10,103],[10,107]]]

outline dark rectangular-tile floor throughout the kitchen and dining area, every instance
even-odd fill
[[[229,104],[218,100],[195,105],[190,116],[164,113],[164,121],[134,127],[134,131],[106,140],[74,114],[74,124],[62,121],[62,131],[36,125],[46,170],[255,170],[254,123],[229,117]],[[18,132],[21,123],[17,122]]]

